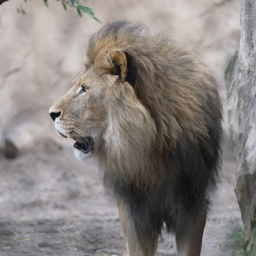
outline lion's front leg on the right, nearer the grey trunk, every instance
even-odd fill
[[[205,206],[197,217],[184,220],[176,232],[178,256],[200,256],[206,215]]]

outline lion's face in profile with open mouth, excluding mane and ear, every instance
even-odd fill
[[[79,159],[91,156],[102,146],[103,124],[107,122],[104,86],[94,68],[88,69],[50,109],[56,130],[75,140],[74,152]]]

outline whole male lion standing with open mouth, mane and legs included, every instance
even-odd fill
[[[84,66],[50,116],[77,158],[98,161],[124,255],[156,255],[163,223],[179,256],[200,255],[221,162],[215,78],[187,47],[126,21],[90,38]]]

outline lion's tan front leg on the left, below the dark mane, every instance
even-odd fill
[[[158,236],[140,230],[121,202],[117,202],[123,228],[123,256],[156,256]]]

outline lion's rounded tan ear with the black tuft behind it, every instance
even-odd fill
[[[110,53],[113,63],[111,73],[119,75],[121,81],[127,81],[134,88],[137,82],[138,70],[134,65],[133,57],[128,52],[114,51]]]

